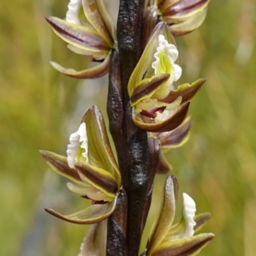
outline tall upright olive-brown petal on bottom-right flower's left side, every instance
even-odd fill
[[[152,255],[157,246],[162,243],[170,230],[175,216],[175,193],[173,179],[168,176],[164,185],[163,202],[155,223],[154,232],[149,239],[147,255]]]

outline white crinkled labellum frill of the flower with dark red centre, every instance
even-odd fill
[[[179,52],[174,44],[168,44],[168,41],[164,38],[164,35],[159,35],[158,37],[159,45],[157,47],[157,51],[154,54],[154,57],[156,58],[156,61],[152,63],[152,68],[155,70],[155,75],[159,74],[157,71],[157,66],[159,63],[159,54],[164,51],[164,53],[168,56],[170,64],[173,68],[173,74],[171,75],[170,83],[173,83],[173,81],[177,81],[182,73],[182,69],[179,65],[175,64],[174,62],[177,60],[179,56]]]

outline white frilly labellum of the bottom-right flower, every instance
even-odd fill
[[[196,225],[194,221],[196,212],[195,201],[186,193],[183,193],[183,217],[186,222],[186,228],[184,230],[182,238],[191,237],[194,234],[194,227]]]

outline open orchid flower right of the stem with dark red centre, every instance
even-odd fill
[[[128,84],[133,121],[150,132],[166,132],[177,128],[188,113],[189,103],[204,84],[198,79],[192,84],[175,88],[182,73],[175,40],[165,22],[152,31],[140,61]]]

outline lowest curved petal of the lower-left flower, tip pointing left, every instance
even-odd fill
[[[61,220],[71,223],[92,224],[105,220],[113,213],[116,206],[116,198],[108,204],[93,204],[82,211],[70,215],[62,215],[59,212],[48,208],[45,208],[45,211],[57,218],[60,218]]]

